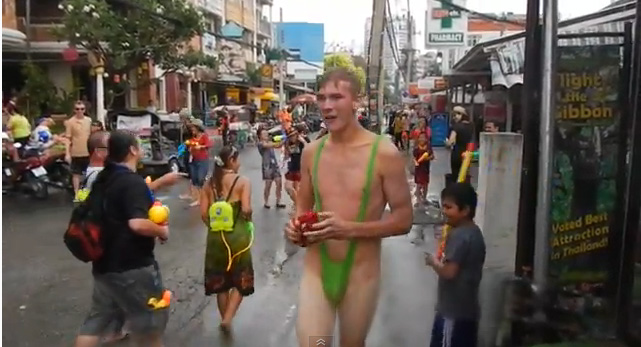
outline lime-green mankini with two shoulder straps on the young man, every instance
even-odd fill
[[[314,156],[312,184],[314,187],[314,209],[317,212],[322,211],[323,206],[323,202],[318,191],[318,162],[320,161],[320,155],[325,147],[327,138],[328,136],[324,136],[321,139],[316,155]],[[372,183],[374,164],[376,162],[376,152],[378,151],[378,144],[381,138],[382,135],[379,135],[372,145],[372,152],[370,154],[369,162],[367,163],[367,171],[365,173],[365,186],[363,187],[361,205],[358,209],[357,222],[363,222],[365,220],[365,212],[367,211],[367,204],[369,203],[370,185]],[[349,274],[352,270],[352,265],[354,264],[355,253],[356,242],[354,240],[350,240],[345,259],[343,261],[333,261],[329,258],[327,245],[324,242],[320,245],[321,279],[323,282],[323,290],[325,291],[327,299],[334,304],[334,306],[338,306],[338,304],[340,304],[341,300],[343,300],[343,296],[345,295],[345,291],[347,290],[347,282],[349,281]]]

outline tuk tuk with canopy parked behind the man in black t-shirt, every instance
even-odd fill
[[[143,158],[138,172],[159,177],[167,172],[186,172],[179,146],[183,142],[183,124],[178,114],[156,114],[148,110],[109,111],[108,130],[129,130],[138,135]]]

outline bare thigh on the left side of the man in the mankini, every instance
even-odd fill
[[[298,346],[316,347],[310,336],[332,336],[336,322],[336,311],[325,298],[320,275],[303,271],[298,298]]]

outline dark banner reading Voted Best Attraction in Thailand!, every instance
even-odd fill
[[[559,47],[549,274],[561,285],[601,285],[616,271],[620,64],[620,46]]]

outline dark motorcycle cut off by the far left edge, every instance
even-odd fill
[[[14,143],[13,146],[16,149],[22,147],[19,143]],[[24,192],[44,200],[49,196],[46,181],[47,170],[42,166],[39,155],[26,153],[24,158],[13,161],[8,153],[3,153],[2,183],[9,191]]]

